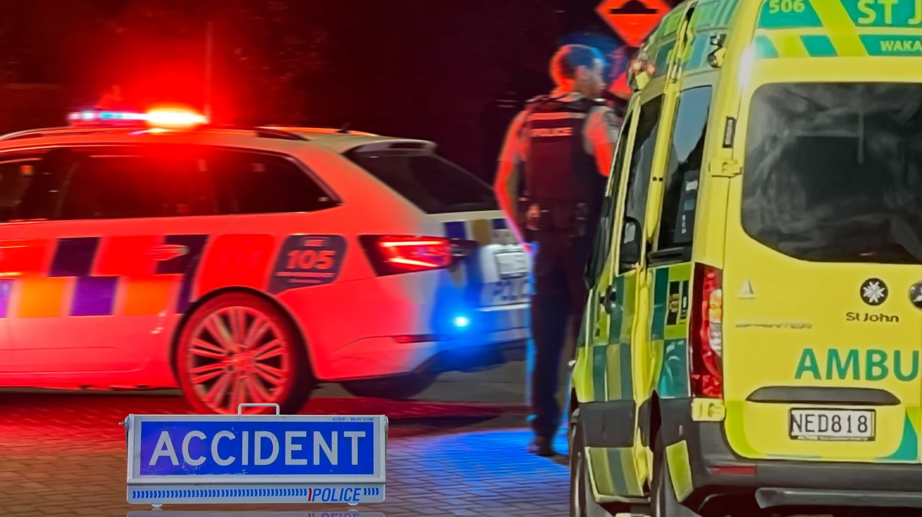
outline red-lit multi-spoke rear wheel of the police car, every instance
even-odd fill
[[[228,293],[208,300],[179,335],[175,368],[196,412],[236,415],[242,403],[297,413],[315,382],[307,348],[289,316],[267,300]],[[244,414],[275,413],[272,407]]]

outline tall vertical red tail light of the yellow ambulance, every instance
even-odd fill
[[[724,396],[724,289],[721,271],[697,264],[691,311],[691,394]]]

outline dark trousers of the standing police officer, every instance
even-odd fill
[[[583,271],[592,241],[561,231],[539,231],[536,237],[538,255],[528,361],[530,419],[535,434],[550,439],[561,424],[561,406],[556,396],[561,382],[561,355],[567,340],[575,342],[579,335],[585,308]]]

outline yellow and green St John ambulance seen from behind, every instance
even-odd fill
[[[922,0],[690,0],[630,76],[573,515],[922,508]]]

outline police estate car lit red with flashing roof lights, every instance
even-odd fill
[[[0,385],[295,412],[408,397],[527,337],[529,259],[422,140],[77,112],[0,137]]]

